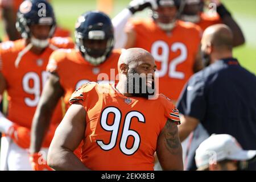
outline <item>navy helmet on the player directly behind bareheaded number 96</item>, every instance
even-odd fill
[[[108,15],[100,11],[82,14],[76,23],[76,46],[90,64],[103,63],[114,47],[114,28]],[[106,40],[104,49],[86,47],[86,40]]]

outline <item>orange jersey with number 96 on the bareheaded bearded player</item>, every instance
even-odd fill
[[[180,123],[179,111],[162,94],[156,100],[129,98],[114,84],[85,84],[73,93],[75,102],[86,111],[81,161],[92,170],[153,170],[167,119]]]

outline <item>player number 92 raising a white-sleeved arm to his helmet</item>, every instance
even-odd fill
[[[149,51],[158,66],[159,92],[173,101],[188,78],[203,68],[200,27],[177,20],[180,6],[177,0],[134,0],[113,19],[115,46]],[[133,14],[146,7],[151,8],[151,18],[134,18],[126,24]]]

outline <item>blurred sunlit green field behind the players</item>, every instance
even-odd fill
[[[74,30],[77,17],[88,10],[100,9],[114,17],[129,4],[129,0],[51,0],[58,23],[61,27]],[[234,49],[234,56],[240,63],[256,74],[256,1],[222,0],[233,17],[240,24],[246,38],[244,46]],[[147,16],[147,11],[137,16]],[[3,38],[2,22],[0,36]]]

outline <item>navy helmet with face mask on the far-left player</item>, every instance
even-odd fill
[[[37,34],[39,36],[33,35],[31,28],[36,26],[49,27],[49,31],[46,35],[40,35],[40,33]],[[56,19],[51,5],[43,0],[24,1],[17,13],[16,28],[22,38],[30,39],[33,46],[39,48],[47,47],[49,38],[53,36],[56,29]],[[42,30],[40,32],[42,34]]]

